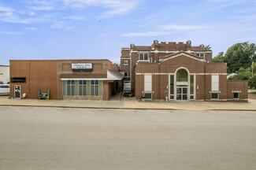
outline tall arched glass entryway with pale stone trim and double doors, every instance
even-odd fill
[[[195,74],[180,67],[169,74],[169,100],[187,101],[195,98]]]

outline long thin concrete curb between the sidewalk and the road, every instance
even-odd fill
[[[64,108],[64,109],[129,109],[129,110],[180,110],[180,111],[248,111],[254,112],[256,109],[202,109],[202,110],[190,110],[190,109],[165,109],[165,108],[111,108],[111,107],[83,107],[83,106],[65,106],[65,105],[0,105],[0,107],[8,106],[8,107],[46,107],[46,108]]]

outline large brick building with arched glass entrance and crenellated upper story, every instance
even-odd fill
[[[131,44],[121,50],[121,72],[136,99],[247,101],[247,81],[228,81],[227,65],[191,41]]]

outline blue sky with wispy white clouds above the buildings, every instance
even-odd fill
[[[213,57],[256,43],[256,0],[0,0],[0,65],[109,59],[159,42],[210,45]]]

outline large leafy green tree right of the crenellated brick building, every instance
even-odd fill
[[[252,61],[256,60],[255,52],[255,44],[248,42],[236,43],[228,48],[224,54],[224,62],[228,65],[228,72],[236,72],[241,67],[250,67]]]

